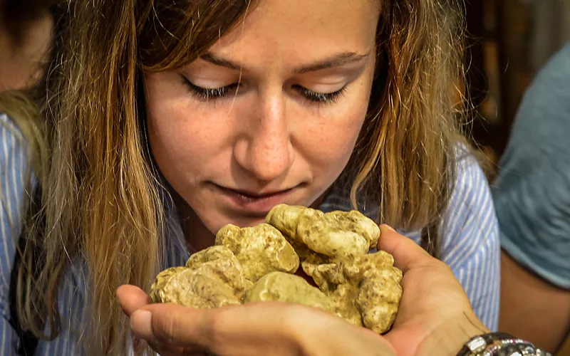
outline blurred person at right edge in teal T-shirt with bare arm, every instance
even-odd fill
[[[527,89],[492,194],[499,328],[554,352],[570,328],[570,43]]]

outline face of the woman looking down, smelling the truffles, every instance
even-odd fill
[[[366,116],[379,11],[261,0],[197,61],[145,75],[152,154],[209,231],[309,206],[341,174]]]

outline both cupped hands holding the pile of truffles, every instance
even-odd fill
[[[169,355],[457,355],[488,332],[475,317],[450,268],[412,240],[381,226],[378,248],[403,271],[403,295],[384,337],[304,305],[249,303],[217,309],[149,304],[144,291],[122,286],[120,305],[135,335]]]

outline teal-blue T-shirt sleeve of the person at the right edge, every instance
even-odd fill
[[[493,198],[504,250],[570,289],[570,44],[525,93]]]

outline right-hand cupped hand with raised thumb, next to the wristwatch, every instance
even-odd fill
[[[403,272],[398,315],[384,335],[398,356],[455,356],[470,337],[489,332],[449,266],[389,226],[380,229],[378,248]]]

